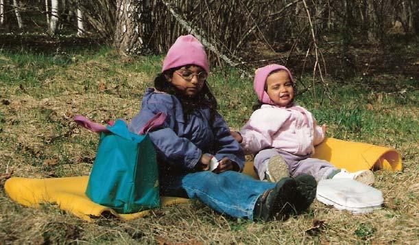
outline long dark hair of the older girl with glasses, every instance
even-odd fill
[[[215,100],[213,93],[211,93],[207,82],[204,82],[201,92],[195,97],[184,95],[182,91],[178,91],[178,89],[176,89],[176,87],[173,86],[173,84],[171,84],[165,76],[168,75],[170,78],[173,77],[174,71],[178,69],[180,69],[180,67],[172,68],[164,71],[163,73],[159,73],[154,79],[154,87],[158,91],[175,95],[178,98],[180,104],[182,105],[185,121],[189,119],[189,115],[191,115],[194,110],[208,107],[210,109],[210,121],[212,123],[215,118],[215,113],[217,113],[217,100]]]

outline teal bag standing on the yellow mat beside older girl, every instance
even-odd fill
[[[106,128],[100,132],[86,196],[118,213],[159,207],[156,151],[148,135],[130,132],[122,120]]]

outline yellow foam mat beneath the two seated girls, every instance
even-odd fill
[[[369,169],[401,170],[400,154],[396,150],[367,143],[356,143],[328,138],[315,149],[319,159],[330,161],[339,168],[350,172]],[[257,178],[253,163],[247,162],[243,173]],[[5,182],[5,192],[12,200],[28,207],[38,207],[40,203],[56,204],[64,211],[73,213],[83,220],[91,221],[101,215],[114,215],[121,220],[132,220],[149,213],[119,214],[114,210],[97,205],[85,194],[88,176],[69,178],[10,178]],[[162,197],[162,206],[188,202],[185,198]]]

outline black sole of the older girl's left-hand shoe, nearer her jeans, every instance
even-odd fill
[[[296,205],[297,182],[293,178],[282,178],[274,187],[272,195],[268,196],[267,202],[272,204],[269,216],[264,217],[269,221],[274,218],[283,220],[287,217]],[[274,200],[269,200],[274,198]]]

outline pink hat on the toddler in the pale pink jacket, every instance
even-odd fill
[[[284,67],[283,65],[272,64],[272,65],[267,65],[265,67],[261,67],[257,69],[254,74],[253,90],[258,96],[258,100],[264,104],[275,105],[275,103],[272,102],[269,95],[267,95],[265,91],[265,83],[266,83],[266,78],[269,75],[269,73],[271,73],[272,71],[277,71],[277,70],[287,71],[289,75],[289,79],[291,80],[291,82],[294,82],[291,72],[289,71],[289,69],[287,69],[287,67]]]

